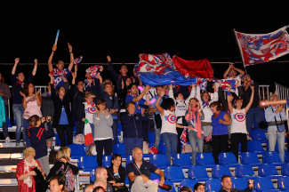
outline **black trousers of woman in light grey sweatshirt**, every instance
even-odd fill
[[[102,166],[102,152],[104,148],[104,154],[106,156],[112,155],[112,139],[108,140],[94,140],[95,150],[97,153],[96,161],[99,167]]]

